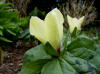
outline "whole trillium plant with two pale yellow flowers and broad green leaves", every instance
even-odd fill
[[[83,19],[68,16],[70,31],[80,29]],[[57,8],[44,20],[31,17],[30,34],[41,44],[25,53],[19,74],[100,74],[99,44],[84,35],[69,38],[67,32],[63,34],[63,22]]]

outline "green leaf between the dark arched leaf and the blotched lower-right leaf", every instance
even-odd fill
[[[87,49],[87,48],[76,48],[70,50],[69,52],[75,57],[80,57],[86,60],[92,59],[97,54],[94,50]]]

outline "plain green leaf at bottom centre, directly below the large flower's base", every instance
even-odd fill
[[[63,74],[59,61],[57,59],[49,61],[43,66],[41,74]]]

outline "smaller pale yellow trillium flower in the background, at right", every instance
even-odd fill
[[[80,19],[77,19],[67,15],[67,20],[68,20],[70,32],[72,33],[75,27],[77,28],[77,30],[81,30],[81,25],[84,21],[84,16],[81,17]]]

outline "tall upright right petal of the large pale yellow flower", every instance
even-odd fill
[[[63,15],[55,8],[49,12],[45,18],[45,24],[48,30],[49,43],[55,48],[59,48],[63,36]]]

